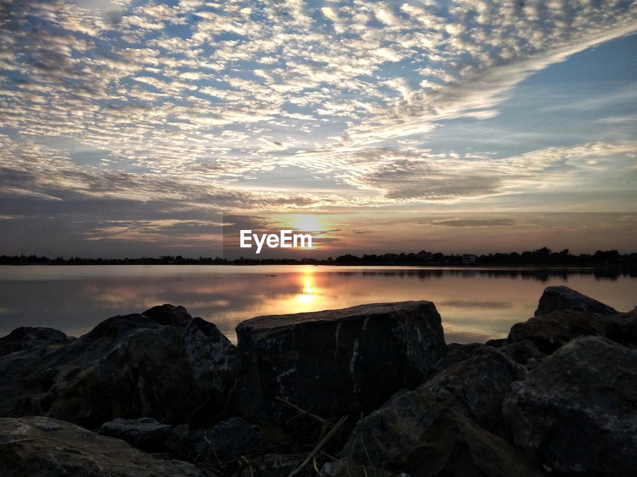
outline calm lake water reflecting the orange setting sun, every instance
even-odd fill
[[[637,278],[592,270],[364,266],[0,266],[0,336],[18,326],[87,333],[104,319],[183,305],[234,328],[265,314],[362,303],[433,301],[447,342],[502,338],[533,316],[543,289],[567,285],[620,311],[637,305]]]

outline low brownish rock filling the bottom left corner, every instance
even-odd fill
[[[157,460],[118,439],[47,417],[0,418],[3,477],[213,477],[179,460]]]

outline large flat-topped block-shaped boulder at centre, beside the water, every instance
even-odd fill
[[[445,353],[430,301],[256,317],[237,337],[231,408],[272,422],[296,413],[275,397],[321,417],[368,413],[419,385]]]

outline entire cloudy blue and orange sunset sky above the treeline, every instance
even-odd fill
[[[0,254],[633,252],[636,132],[634,1],[0,0]]]

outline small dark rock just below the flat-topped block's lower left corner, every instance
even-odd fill
[[[259,434],[241,417],[220,422],[210,429],[178,425],[171,432],[166,448],[182,459],[217,463],[252,450]]]

